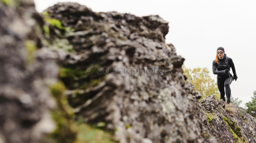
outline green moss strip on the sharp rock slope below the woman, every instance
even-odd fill
[[[242,137],[242,134],[241,134],[241,128],[239,126],[236,126],[236,122],[234,121],[230,121],[230,119],[222,116],[223,120],[226,122],[230,132],[233,134],[233,138],[234,139],[239,139]]]

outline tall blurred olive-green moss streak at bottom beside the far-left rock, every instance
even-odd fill
[[[56,142],[73,143],[76,141],[77,132],[73,124],[73,111],[68,105],[64,91],[65,86],[62,82],[50,86],[50,93],[57,103],[57,108],[51,111],[56,129],[50,134],[50,137]]]

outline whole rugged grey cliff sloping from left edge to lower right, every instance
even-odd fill
[[[39,15],[32,1],[11,2],[0,3],[3,142],[49,142],[53,131],[57,142],[79,141],[78,120],[121,143],[256,141],[256,120],[242,108],[214,96],[198,102],[158,15],[77,3]]]

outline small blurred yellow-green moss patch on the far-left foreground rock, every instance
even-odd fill
[[[30,63],[34,60],[34,51],[37,49],[35,42],[33,40],[25,40],[24,46],[27,49],[27,63]]]

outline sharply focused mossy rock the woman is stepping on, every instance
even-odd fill
[[[217,100],[215,95],[203,98],[199,105],[204,107],[209,121],[207,126],[218,142],[234,142],[238,139],[256,142],[256,119],[247,114],[242,107],[226,107],[225,102]],[[225,108],[229,109],[226,111]],[[229,110],[232,111],[228,112]]]

